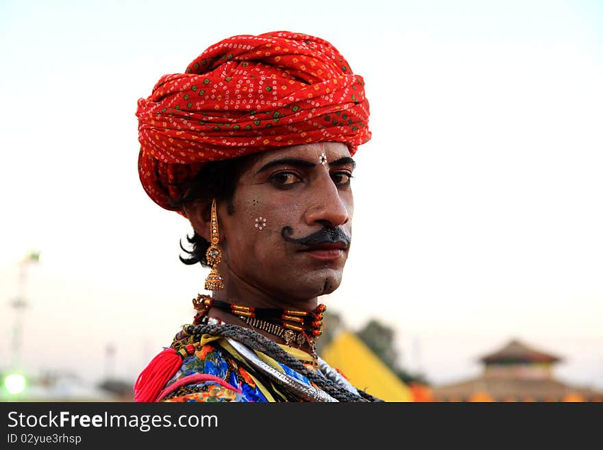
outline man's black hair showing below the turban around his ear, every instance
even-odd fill
[[[243,172],[245,164],[254,156],[247,155],[232,160],[208,162],[195,175],[193,180],[185,186],[184,196],[180,201],[175,202],[174,207],[182,209],[186,203],[197,200],[210,204],[212,199],[215,198],[218,203],[227,201],[228,214],[234,214],[232,199],[236,190],[238,177]],[[187,265],[200,262],[201,266],[208,267],[206,251],[210,247],[210,242],[195,232],[195,230],[193,230],[193,236],[186,236],[186,240],[190,248],[184,248],[182,246],[182,239],[180,240],[180,249],[186,253],[184,257],[180,255],[180,261]]]

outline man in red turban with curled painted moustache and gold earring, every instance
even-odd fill
[[[352,232],[362,77],[329,42],[273,32],[209,47],[138,101],[140,180],[186,216],[211,268],[197,315],[136,401],[373,401],[316,353]]]

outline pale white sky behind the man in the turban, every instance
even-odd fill
[[[519,338],[603,388],[595,0],[0,0],[0,367],[132,379],[190,322],[206,271],[179,262],[190,225],[140,186],[136,101],[214,42],[278,30],[332,42],[371,104],[328,310],[392,327],[435,384]]]

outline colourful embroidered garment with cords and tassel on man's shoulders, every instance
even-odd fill
[[[209,319],[182,327],[171,347],[153,358],[140,373],[134,399],[379,401],[354,388],[321,358],[317,360],[305,351],[278,345],[251,329]]]

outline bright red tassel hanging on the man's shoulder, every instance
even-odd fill
[[[134,401],[155,401],[181,365],[182,356],[174,349],[159,353],[138,375],[134,384]]]

